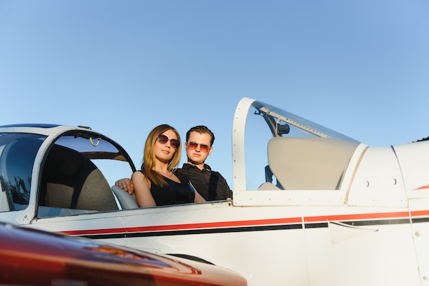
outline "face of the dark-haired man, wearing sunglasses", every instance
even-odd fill
[[[212,146],[210,146],[210,140],[212,138],[210,137],[210,134],[208,133],[198,133],[198,132],[191,132],[189,134],[189,139],[188,142],[186,142],[184,148],[186,151],[186,156],[188,157],[188,161],[190,161],[192,164],[198,165],[198,164],[204,164],[204,161],[206,161],[207,156],[210,155],[212,153]],[[192,146],[195,146],[195,144],[198,144],[198,146],[192,149]],[[208,146],[208,152],[204,153],[201,149],[201,145],[206,145]]]

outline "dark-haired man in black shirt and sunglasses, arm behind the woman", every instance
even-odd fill
[[[195,189],[206,200],[226,200],[232,198],[232,191],[225,178],[219,172],[205,164],[205,161],[213,151],[215,135],[206,126],[192,127],[186,132],[184,148],[188,162],[183,164],[182,169],[177,172],[186,174]],[[115,185],[132,194],[134,186],[130,179],[118,180]]]

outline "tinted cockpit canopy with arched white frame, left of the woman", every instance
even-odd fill
[[[135,168],[116,142],[90,129],[55,137],[36,130],[49,133],[57,125],[9,127],[12,132],[0,133],[0,211],[25,209],[32,196],[38,201],[38,216],[49,216],[46,211],[56,208],[118,209],[110,186],[121,176],[130,177]],[[21,127],[34,133],[16,131]]]

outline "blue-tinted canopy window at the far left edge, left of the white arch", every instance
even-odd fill
[[[36,134],[0,133],[0,211],[28,206],[34,158],[45,138]]]

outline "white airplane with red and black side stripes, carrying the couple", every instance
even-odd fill
[[[89,127],[0,127],[0,220],[208,261],[248,285],[428,285],[429,140],[368,146],[247,97],[228,200],[138,208]]]

